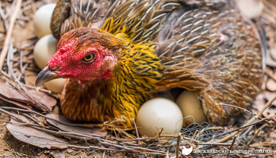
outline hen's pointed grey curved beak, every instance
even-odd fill
[[[43,83],[61,78],[63,75],[58,75],[57,73],[51,71],[49,66],[43,68],[36,77],[36,87],[41,86]]]

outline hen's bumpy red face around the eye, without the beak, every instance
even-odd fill
[[[117,53],[102,46],[100,42],[83,42],[84,38],[87,38],[87,41],[92,38],[88,37],[74,38],[65,34],[58,42],[56,53],[49,59],[47,66],[53,72],[63,75],[62,78],[71,80],[115,78]],[[92,62],[84,61],[83,58],[92,52]]]

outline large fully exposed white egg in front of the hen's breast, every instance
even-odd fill
[[[161,134],[178,133],[181,130],[183,120],[179,107],[171,100],[154,98],[145,102],[139,109],[136,122],[140,135],[154,137]]]

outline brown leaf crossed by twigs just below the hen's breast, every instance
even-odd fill
[[[80,134],[85,134],[85,135],[91,135],[91,134],[97,134],[99,136],[105,136],[107,135],[107,132],[102,132],[101,128],[98,127],[93,127],[93,128],[85,128],[85,127],[79,127],[79,126],[70,126],[70,125],[65,125],[63,123],[67,124],[74,124],[73,121],[68,120],[63,114],[46,114],[47,117],[50,117],[52,119],[46,119],[48,123],[51,125],[67,132],[73,132],[73,133],[80,133]],[[57,121],[63,122],[59,123]]]

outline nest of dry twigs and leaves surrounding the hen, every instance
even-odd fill
[[[276,112],[273,102],[276,93],[267,90],[276,85],[273,82],[274,85],[267,84],[267,89],[264,87],[265,91],[257,98],[254,109],[218,104],[217,106],[235,107],[243,112],[239,121],[225,127],[192,123],[183,128],[181,133],[162,135],[162,129],[159,129],[158,136],[149,138],[139,136],[136,126],[134,129],[127,129],[108,122],[87,124],[67,120],[59,110],[58,94],[34,86],[36,75],[40,71],[33,62],[33,46],[37,38],[31,36],[21,40],[19,44],[18,41],[14,42],[16,32],[20,32],[18,28],[28,30],[33,13],[43,3],[38,2],[4,1],[0,8],[3,27],[0,27],[3,32],[0,36],[3,37],[0,38],[0,111],[10,116],[10,120],[1,121],[7,123],[6,128],[16,139],[44,148],[42,152],[51,149],[65,149],[68,153],[84,150],[89,155],[99,150],[103,151],[102,157],[105,152],[126,153],[135,157],[185,157],[179,148],[182,144],[187,148],[192,146],[194,150],[209,151],[192,152],[189,157],[275,157],[276,133],[273,130],[276,127]],[[272,48],[275,42],[273,38],[276,37],[276,22],[273,21],[276,19],[276,9],[271,5],[273,3],[265,1],[264,4],[271,7],[265,8],[261,15],[263,20],[255,21],[259,27],[262,27],[260,24],[265,24],[265,33],[269,35],[269,48]],[[12,13],[11,9],[15,11]],[[18,30],[15,31],[16,29]],[[273,53],[276,54],[276,51],[272,52],[272,56]],[[264,85],[267,78],[276,81],[273,69],[276,59],[270,60],[272,61],[268,65]],[[265,103],[266,101],[268,102]],[[117,121],[122,120],[117,118]],[[268,153],[210,152],[216,150],[257,150]],[[40,156],[42,152],[37,155]]]

